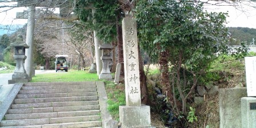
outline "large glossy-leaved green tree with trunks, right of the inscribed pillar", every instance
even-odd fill
[[[202,3],[174,0],[141,0],[136,9],[140,44],[158,58],[163,93],[176,103],[177,88],[186,115],[186,100],[199,75],[215,59],[214,53],[227,52],[226,14],[207,13]]]

